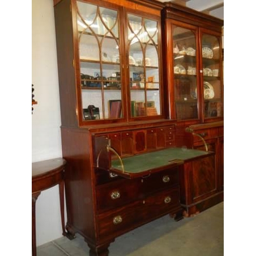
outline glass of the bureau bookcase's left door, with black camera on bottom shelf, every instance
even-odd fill
[[[84,120],[122,117],[119,12],[77,1]]]

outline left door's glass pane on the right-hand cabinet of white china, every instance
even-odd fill
[[[175,105],[178,120],[197,119],[196,32],[173,26]]]

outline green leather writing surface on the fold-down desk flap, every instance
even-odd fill
[[[158,168],[160,166],[170,165],[175,159],[189,160],[195,157],[207,155],[208,152],[193,150],[187,148],[167,148],[165,150],[145,153],[141,155],[122,158],[124,172],[140,173],[145,170]],[[119,160],[112,160],[112,168],[122,169]]]

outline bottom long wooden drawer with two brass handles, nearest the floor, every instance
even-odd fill
[[[117,236],[165,214],[173,214],[179,204],[179,186],[176,186],[145,200],[104,212],[97,216],[99,237]]]

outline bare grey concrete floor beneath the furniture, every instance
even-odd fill
[[[222,256],[224,203],[179,222],[164,216],[116,238],[109,256]],[[37,256],[89,256],[83,238],[61,237],[37,247]]]

